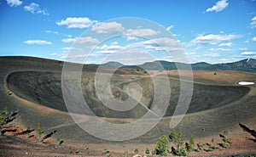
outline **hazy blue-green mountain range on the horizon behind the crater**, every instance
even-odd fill
[[[103,64],[104,66],[131,68],[131,69],[146,69],[146,70],[177,70],[178,69],[188,69],[189,64],[178,63],[178,62],[168,62],[164,60],[157,60],[154,62],[147,62],[140,65],[124,65],[119,62],[108,62]],[[241,61],[224,63],[224,64],[208,64],[206,62],[200,62],[195,64],[190,64],[192,70],[241,70],[247,72],[256,73],[256,59],[243,59]]]

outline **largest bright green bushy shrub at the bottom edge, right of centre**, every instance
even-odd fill
[[[169,141],[168,138],[163,135],[159,138],[155,147],[155,154],[166,155],[169,150]]]

